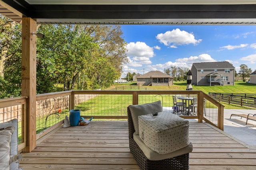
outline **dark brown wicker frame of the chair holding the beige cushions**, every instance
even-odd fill
[[[186,147],[188,152],[182,155],[173,156],[161,160],[150,160],[134,140],[134,122],[132,120],[131,110],[127,107],[128,114],[128,132],[129,132],[129,147],[138,166],[141,170],[188,170],[189,169],[189,152],[192,152],[192,144]],[[171,113],[172,114],[172,113]],[[145,147],[144,149],[145,150]],[[185,151],[186,152],[186,151]],[[178,152],[169,155],[177,155]],[[184,149],[181,153],[184,153]],[[160,157],[162,155],[159,155]]]

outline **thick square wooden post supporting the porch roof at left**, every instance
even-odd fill
[[[25,120],[26,147],[24,152],[36,148],[36,21],[22,18],[22,96],[28,96]]]

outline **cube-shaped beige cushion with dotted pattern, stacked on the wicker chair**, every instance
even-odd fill
[[[170,112],[159,112],[138,117],[139,134],[150,149],[166,154],[190,144],[189,121]]]

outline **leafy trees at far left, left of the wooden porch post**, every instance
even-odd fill
[[[1,98],[21,95],[21,25],[0,15]]]

